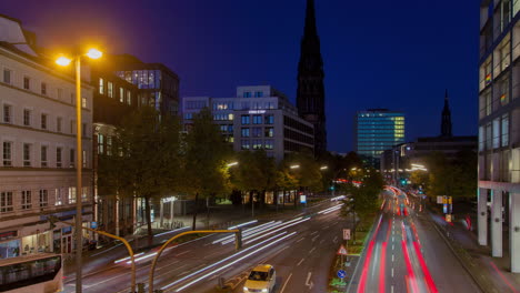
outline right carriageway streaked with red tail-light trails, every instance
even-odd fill
[[[388,190],[348,292],[480,292],[422,211]]]

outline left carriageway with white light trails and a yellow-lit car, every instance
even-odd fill
[[[327,201],[297,215],[246,223],[243,246],[234,250],[233,235],[211,234],[169,247],[154,273],[154,289],[164,292],[216,292],[218,280],[242,292],[249,271],[272,264],[276,292],[326,292],[329,270],[340,245],[341,231],[349,225],[339,216],[341,202]],[[148,283],[153,251],[137,259],[137,282]],[[83,276],[83,292],[130,292],[130,265],[109,263]],[[66,281],[73,291],[73,279]],[[109,291],[107,291],[109,290]],[[147,291],[148,292],[148,291]]]

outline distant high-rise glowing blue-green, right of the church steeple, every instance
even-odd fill
[[[404,113],[388,109],[369,109],[356,114],[356,152],[373,166],[379,168],[383,151],[403,142]]]

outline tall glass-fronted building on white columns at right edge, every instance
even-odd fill
[[[520,1],[480,4],[479,243],[502,257],[509,228],[511,271],[520,273]],[[490,219],[488,218],[488,202]],[[507,214],[503,216],[503,211]],[[488,236],[488,228],[491,235]]]

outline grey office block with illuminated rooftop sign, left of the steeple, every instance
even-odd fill
[[[238,87],[232,98],[186,97],[182,108],[187,131],[201,109],[211,109],[214,123],[234,151],[263,149],[277,161],[290,152],[313,152],[312,123],[270,85]]]

